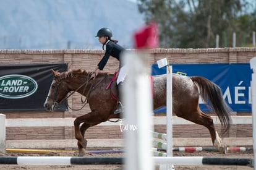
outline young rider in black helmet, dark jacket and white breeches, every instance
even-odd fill
[[[95,72],[93,72],[93,74],[91,75],[91,78],[95,79],[100,70],[103,70],[106,63],[108,62],[109,56],[115,57],[119,61],[119,74],[116,80],[117,88],[119,91],[119,102],[117,104],[117,109],[114,111],[115,114],[118,114],[124,111],[121,103],[121,88],[124,84],[124,79],[126,77],[126,66],[124,66],[121,57],[122,52],[124,52],[126,49],[124,49],[120,45],[117,45],[117,40],[111,40],[112,36],[112,32],[111,30],[109,30],[109,28],[101,28],[100,30],[98,30],[97,35],[95,37],[98,37],[99,42],[103,45],[103,50],[104,46],[106,46],[106,51],[105,55],[101,58],[100,62],[98,63]]]

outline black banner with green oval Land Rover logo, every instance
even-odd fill
[[[53,80],[51,69],[63,72],[67,64],[0,66],[0,112],[45,111],[43,104]],[[62,103],[57,111],[66,111]]]

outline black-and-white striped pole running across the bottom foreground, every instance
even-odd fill
[[[236,165],[252,166],[250,158],[225,157],[153,157],[155,164],[176,165]],[[122,157],[70,157],[70,156],[0,156],[0,164],[71,165],[71,164],[123,164]]]

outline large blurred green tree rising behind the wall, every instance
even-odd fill
[[[246,16],[255,20],[246,13],[245,0],[138,0],[138,4],[146,21],[158,21],[162,48],[215,47],[216,34],[248,28],[249,22],[242,23]]]

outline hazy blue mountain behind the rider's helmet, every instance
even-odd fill
[[[101,49],[96,32],[108,27],[119,45],[145,23],[127,0],[0,0],[0,49]]]

